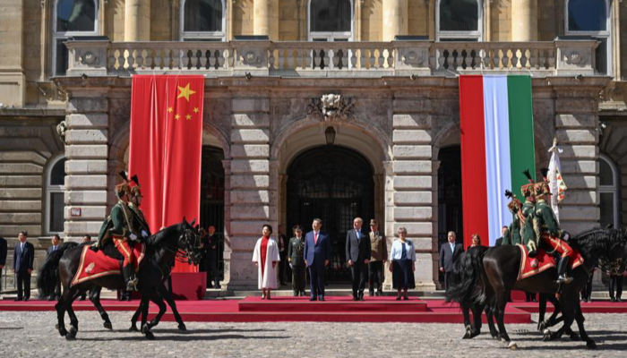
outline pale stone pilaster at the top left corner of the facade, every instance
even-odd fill
[[[24,0],[0,0],[0,103],[6,107],[23,107],[26,102],[23,3]]]

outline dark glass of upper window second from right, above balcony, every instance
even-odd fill
[[[441,0],[440,30],[479,30],[479,5],[477,0]]]

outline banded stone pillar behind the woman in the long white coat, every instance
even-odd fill
[[[271,190],[270,100],[234,98],[232,107],[228,289],[256,289],[257,269],[251,262],[254,244],[262,235],[263,224],[276,224],[276,187]]]

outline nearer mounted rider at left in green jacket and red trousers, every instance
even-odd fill
[[[141,233],[135,229],[135,223],[138,220],[133,210],[128,206],[131,191],[130,183],[124,172],[120,175],[125,181],[116,185],[118,201],[100,227],[99,247],[103,247],[108,240],[113,240],[117,251],[120,251],[124,257],[122,276],[125,279],[126,291],[133,291],[137,289],[137,277],[135,276],[137,258],[131,246],[140,239]]]

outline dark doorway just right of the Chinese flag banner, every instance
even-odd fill
[[[216,226],[219,242],[219,279],[224,279],[224,151],[202,146],[201,167],[201,224],[202,227]],[[204,268],[204,266],[202,266]],[[208,283],[209,285],[209,283]]]

